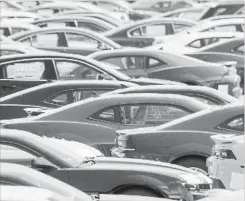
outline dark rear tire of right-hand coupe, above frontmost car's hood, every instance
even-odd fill
[[[176,165],[181,165],[184,167],[193,167],[197,169],[201,169],[205,172],[208,172],[208,168],[206,166],[206,160],[198,157],[190,157],[190,158],[185,158],[185,159],[180,159],[176,162],[174,162]]]

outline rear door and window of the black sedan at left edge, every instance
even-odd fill
[[[57,79],[50,59],[23,59],[0,65],[0,97]]]

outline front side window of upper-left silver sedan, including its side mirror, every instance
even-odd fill
[[[99,41],[91,36],[81,33],[65,33],[67,47],[64,49],[66,53],[89,55],[91,53],[112,49],[108,44]]]

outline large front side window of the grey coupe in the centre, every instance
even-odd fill
[[[125,105],[124,124],[163,124],[190,114],[171,105]]]

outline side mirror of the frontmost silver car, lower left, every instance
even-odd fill
[[[33,159],[31,161],[31,167],[45,173],[57,169],[57,167],[53,163],[50,163],[43,157]]]

